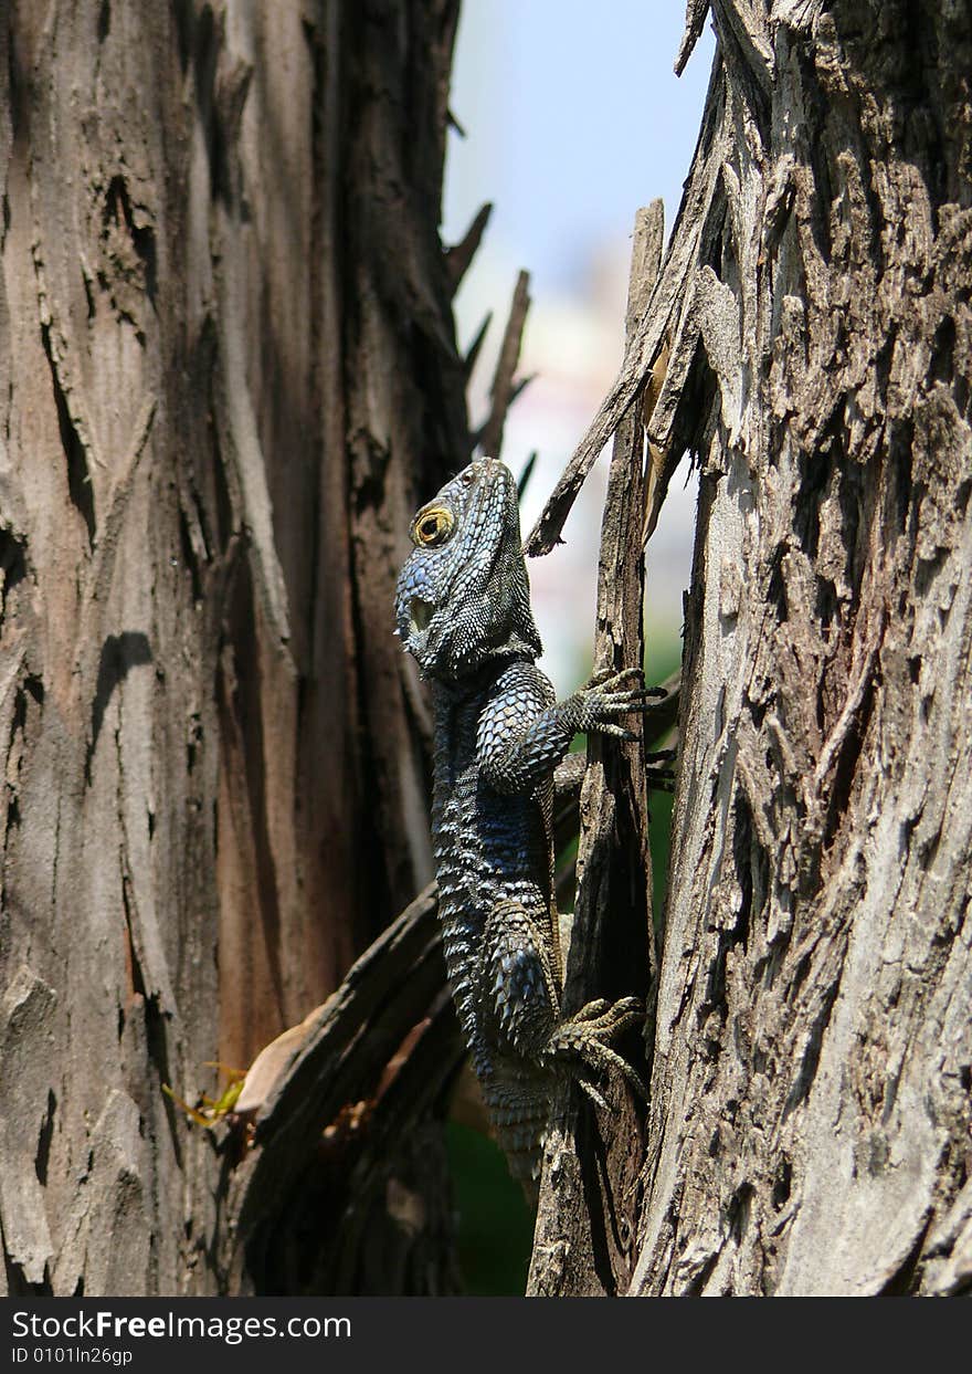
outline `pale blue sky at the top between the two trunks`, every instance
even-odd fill
[[[707,30],[675,77],[682,18],[678,0],[463,0],[446,240],[493,201],[490,240],[542,291],[653,196],[671,223],[713,54]]]

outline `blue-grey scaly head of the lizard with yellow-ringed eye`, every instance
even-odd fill
[[[397,633],[423,677],[453,680],[490,658],[541,651],[530,610],[513,474],[478,458],[423,506],[398,574]]]

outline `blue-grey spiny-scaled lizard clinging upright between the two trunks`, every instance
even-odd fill
[[[446,969],[511,1172],[535,1200],[557,1074],[570,1073],[601,1106],[599,1074],[637,1084],[611,1043],[643,1015],[636,998],[560,1013],[553,769],[579,731],[633,739],[616,717],[656,694],[643,690],[640,669],[627,669],[556,701],[535,665],[541,643],[516,485],[497,459],[470,463],[419,510],[409,533],[397,633],[432,684]]]

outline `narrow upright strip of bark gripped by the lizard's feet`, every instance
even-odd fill
[[[629,331],[640,319],[658,275],[663,243],[660,201],[638,210],[627,289]],[[633,404],[614,441],[601,526],[597,578],[594,672],[644,662],[641,606],[645,506],[645,431]],[[651,912],[651,848],[643,738],[618,747],[589,739],[581,791],[577,907],[571,929],[563,1010],[571,1014],[594,996],[614,1000],[647,995],[655,967]],[[643,969],[644,987],[632,982]],[[637,1037],[630,1037],[637,1044]],[[633,1058],[632,1062],[637,1061]],[[627,1087],[614,1088],[614,1116],[594,1143],[590,1107],[566,1090],[563,1125],[552,1132],[544,1160],[531,1294],[614,1294],[627,1287],[633,1267],[641,1112]],[[599,1123],[603,1129],[605,1123]]]

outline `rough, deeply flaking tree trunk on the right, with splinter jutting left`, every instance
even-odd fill
[[[972,22],[711,11],[686,199],[572,464],[669,330],[702,495],[632,1292],[969,1292]]]

